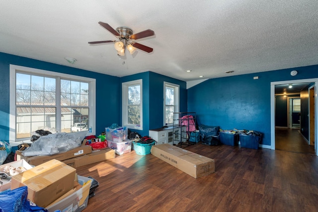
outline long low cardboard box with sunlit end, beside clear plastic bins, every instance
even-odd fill
[[[63,160],[62,162],[64,162],[65,164],[69,166],[77,168],[80,166],[97,163],[97,162],[108,160],[111,158],[115,158],[115,150],[107,148],[107,149],[93,151],[90,154],[85,154],[79,157]]]

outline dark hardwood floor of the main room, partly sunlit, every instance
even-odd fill
[[[317,212],[318,157],[239,146],[185,147],[215,159],[193,178],[135,151],[79,167],[99,182],[84,212]]]

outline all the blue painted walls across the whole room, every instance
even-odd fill
[[[75,74],[96,79],[96,134],[113,123],[121,124],[121,82],[143,79],[144,130],[163,125],[163,81],[180,85],[180,111],[196,112],[197,123],[222,129],[263,133],[270,145],[270,82],[318,78],[318,65],[206,80],[186,90],[186,82],[151,71],[115,77],[0,53],[0,139],[9,138],[9,64]],[[296,76],[290,71],[297,70]],[[254,80],[253,76],[259,76]]]

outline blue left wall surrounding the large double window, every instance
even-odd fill
[[[63,59],[61,59],[63,60]],[[120,78],[92,71],[0,53],[0,140],[9,140],[9,65],[74,74],[96,79],[96,134],[120,120]]]

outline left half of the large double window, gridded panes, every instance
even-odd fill
[[[44,128],[56,129],[56,79],[16,72],[16,139]]]

